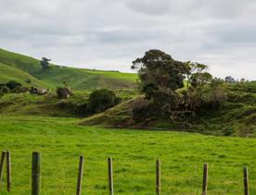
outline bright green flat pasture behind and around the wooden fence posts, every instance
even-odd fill
[[[242,194],[249,166],[256,194],[256,140],[167,131],[79,126],[75,118],[0,116],[0,150],[12,153],[13,189],[30,194],[32,152],[42,152],[42,194],[74,194],[79,155],[85,156],[83,194],[108,194],[113,157],[116,194],[154,194],[155,160],[162,194],[200,194],[202,165],[210,165],[209,194]],[[6,184],[6,177],[4,183]],[[0,189],[0,194],[7,194]]]

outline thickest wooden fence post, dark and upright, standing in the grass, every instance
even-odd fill
[[[40,194],[41,186],[41,155],[40,152],[32,152],[32,195]]]

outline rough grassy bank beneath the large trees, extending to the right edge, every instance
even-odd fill
[[[218,110],[207,110],[195,118],[186,118],[185,121],[171,119],[143,120],[134,119],[134,109],[147,101],[142,97],[110,108],[104,113],[83,119],[82,125],[110,128],[150,128],[166,129],[202,134],[256,137],[256,92],[247,90],[247,86],[256,83],[244,84],[240,89],[236,86],[227,86],[227,100]]]

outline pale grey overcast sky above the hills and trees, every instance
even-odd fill
[[[69,67],[131,71],[149,49],[256,79],[255,0],[0,0],[0,47]]]

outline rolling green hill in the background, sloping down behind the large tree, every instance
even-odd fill
[[[61,67],[53,64],[43,71],[39,60],[3,49],[0,49],[0,63],[1,82],[14,79],[24,83],[24,79],[32,79],[35,85],[55,89],[66,81],[72,90],[134,89],[136,87],[137,76],[133,73]],[[11,68],[15,70],[15,74],[12,74]]]

